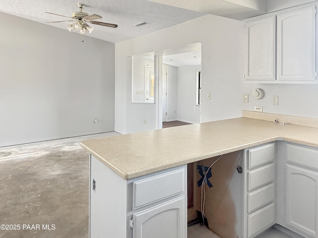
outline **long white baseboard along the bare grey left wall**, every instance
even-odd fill
[[[35,143],[35,142],[43,142],[43,141],[48,141],[48,140],[58,140],[58,139],[72,138],[72,137],[78,137],[78,136],[83,136],[83,135],[94,135],[94,134],[100,134],[100,133],[106,133],[106,132],[112,132],[112,131],[114,131],[114,130],[109,130],[109,131],[105,131],[105,130],[102,130],[102,131],[91,131],[91,132],[83,132],[83,133],[70,134],[70,135],[61,135],[61,136],[51,136],[51,137],[31,139],[31,140],[11,141],[11,142],[7,142],[7,143],[1,143],[0,147],[13,146],[13,145],[23,145],[23,144],[29,144],[29,143]]]

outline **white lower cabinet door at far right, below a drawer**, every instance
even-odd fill
[[[318,173],[286,165],[286,223],[318,237]]]

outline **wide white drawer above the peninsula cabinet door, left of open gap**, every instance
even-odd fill
[[[184,169],[133,182],[133,210],[184,192]]]

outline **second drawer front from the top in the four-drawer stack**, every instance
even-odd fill
[[[275,179],[274,163],[249,171],[247,173],[247,179],[248,191],[265,185],[266,183],[273,182]]]

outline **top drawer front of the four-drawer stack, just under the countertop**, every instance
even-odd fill
[[[273,161],[275,158],[275,143],[260,146],[248,151],[248,169]]]

